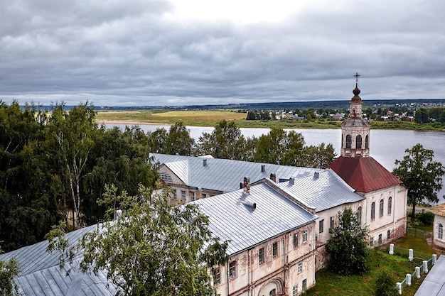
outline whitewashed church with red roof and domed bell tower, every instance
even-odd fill
[[[363,118],[355,74],[350,118],[341,124],[341,155],[329,165],[355,192],[365,197],[358,216],[370,227],[370,246],[403,236],[407,225],[407,188],[370,157],[370,124]]]

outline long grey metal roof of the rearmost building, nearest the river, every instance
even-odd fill
[[[270,177],[273,172],[279,179],[304,177],[313,172],[323,171],[315,168],[292,167],[289,165],[272,165],[270,163],[251,163],[240,160],[220,158],[203,158],[183,155],[166,155],[151,153],[156,161],[166,165],[183,182],[191,187],[231,192],[240,188],[244,177],[250,177],[250,182],[257,182]],[[264,172],[262,172],[264,165]]]

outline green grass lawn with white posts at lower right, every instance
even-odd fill
[[[428,260],[433,253],[439,257],[439,253],[431,248],[426,241],[414,236],[404,236],[395,241],[395,255],[387,251],[374,248],[370,256],[370,270],[364,275],[351,275],[349,277],[336,275],[328,270],[319,270],[316,273],[316,287],[311,288],[306,295],[331,296],[331,295],[374,295],[375,278],[381,270],[386,270],[393,275],[395,282],[401,282],[407,273],[413,273],[416,266],[422,265],[422,260]],[[397,248],[398,246],[398,248]],[[389,248],[389,247],[388,247]],[[414,261],[408,260],[407,249],[414,249]],[[425,276],[425,275],[424,275]],[[412,296],[422,283],[420,279],[412,279],[410,287],[404,287],[402,295]]]

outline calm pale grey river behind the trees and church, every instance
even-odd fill
[[[124,124],[109,124],[107,127],[119,126],[124,128]],[[156,128],[170,128],[166,125],[140,124],[144,131],[155,131]],[[188,126],[190,136],[198,140],[203,132],[211,133],[213,127]],[[289,130],[288,130],[289,131]],[[304,136],[307,146],[318,146],[321,143],[332,143],[337,155],[341,148],[340,129],[295,129],[294,131]],[[269,128],[241,128],[241,132],[246,137],[259,137],[269,133]],[[441,131],[407,131],[407,130],[371,130],[370,132],[370,156],[377,160],[387,170],[395,168],[395,160],[402,160],[406,155],[405,150],[412,148],[417,143],[421,143],[426,149],[434,151],[434,160],[445,164],[445,132]],[[437,196],[441,202],[445,202],[445,188]]]

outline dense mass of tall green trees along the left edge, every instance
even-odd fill
[[[157,179],[149,138],[140,128],[100,128],[80,104],[52,112],[0,102],[0,243],[5,251],[36,243],[60,219],[95,224],[96,200],[114,183],[136,194]],[[82,213],[82,215],[80,215]],[[71,226],[73,227],[73,226]]]

